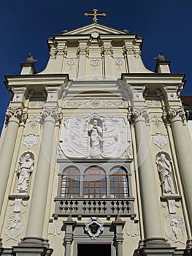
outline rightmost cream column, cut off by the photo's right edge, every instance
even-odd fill
[[[192,151],[191,146],[187,141],[188,139],[191,140],[191,138],[187,138],[185,133],[185,113],[183,108],[169,108],[166,117],[172,124],[175,150],[180,167],[186,206],[188,208],[188,219],[192,225]]]

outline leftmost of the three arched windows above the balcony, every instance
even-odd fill
[[[77,167],[67,167],[61,180],[61,197],[74,198],[80,196],[80,173]]]

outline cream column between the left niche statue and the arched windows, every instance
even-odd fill
[[[34,190],[31,197],[26,237],[42,238],[57,113],[57,108],[45,108],[42,113],[41,123],[43,124],[43,132],[41,148],[39,150]]]

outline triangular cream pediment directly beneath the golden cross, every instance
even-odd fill
[[[72,31],[63,33],[64,35],[77,35],[77,34],[126,34],[125,31],[118,29],[112,29],[108,26],[101,25],[99,23],[91,23],[88,26],[83,26]]]

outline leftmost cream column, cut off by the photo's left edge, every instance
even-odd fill
[[[12,157],[15,149],[15,142],[18,135],[18,127],[20,121],[22,121],[21,108],[12,109],[9,108],[6,113],[7,131],[4,136],[4,142],[0,151],[0,163],[1,163],[1,178],[0,178],[0,211],[4,200],[4,193],[7,187],[7,181],[9,178],[9,171],[12,165]]]

